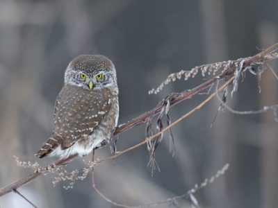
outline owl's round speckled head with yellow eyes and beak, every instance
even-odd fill
[[[117,76],[113,62],[104,55],[79,55],[65,70],[65,85],[86,90],[117,89]]]

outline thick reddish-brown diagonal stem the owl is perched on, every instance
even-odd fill
[[[254,55],[250,58],[246,58],[243,67],[249,67],[252,64],[258,64],[261,62],[265,62],[267,60],[277,59],[278,55],[276,53],[272,54],[277,49],[278,49],[278,43],[274,44],[273,46],[270,46],[268,49],[265,49],[264,51],[261,51],[260,53]],[[218,80],[223,79],[223,78],[228,78],[229,76],[234,74],[237,67],[238,66],[236,64],[234,64],[231,67],[229,67],[227,70],[220,73],[220,75],[207,80],[206,82],[202,83],[201,85],[198,85],[197,87],[195,87],[193,89],[185,90],[185,91],[181,92],[180,94],[173,94],[170,97],[170,107],[176,105],[177,103],[180,103],[181,101],[186,100],[187,98],[191,98],[195,94],[199,94],[199,92],[203,92],[204,89],[208,89],[209,87],[211,87],[211,85],[216,83]],[[115,128],[113,137],[116,137],[117,135],[122,134],[122,132],[125,132],[126,130],[133,128],[136,125],[140,125],[140,124],[144,123],[147,119],[149,119],[152,116],[161,112],[163,105],[164,105],[163,102],[161,102],[156,107],[154,107],[152,110],[149,110],[148,112],[145,112],[144,114],[137,116],[136,118],[132,119],[131,121],[124,123],[124,124],[120,125],[119,127]],[[66,159],[58,159],[56,162],[49,164],[49,166],[46,166],[44,168],[44,170],[47,171],[49,169],[49,167],[53,168],[54,166],[58,167],[58,166],[62,166],[63,164],[67,164],[67,163],[71,162],[73,159],[75,159],[76,157],[77,157],[76,155],[72,155]],[[44,173],[46,173],[46,172],[36,171],[35,173],[31,173],[28,176],[23,177],[22,179],[19,179],[16,182],[13,182],[12,184],[9,184],[6,187],[1,188],[0,196],[3,196],[6,193],[10,193],[11,191],[18,189],[19,187],[22,187],[24,184],[27,184],[28,182],[35,180],[35,178],[39,177],[40,175],[42,175]]]

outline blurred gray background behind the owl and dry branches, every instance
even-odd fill
[[[113,60],[120,87],[120,123],[150,110],[170,92],[181,92],[204,78],[179,80],[161,94],[148,95],[168,74],[197,65],[234,60],[258,53],[278,41],[278,1],[0,1],[0,186],[30,173],[13,155],[33,155],[49,137],[54,102],[67,64],[80,54]],[[272,62],[277,71],[278,62]],[[238,93],[228,99],[237,110],[278,103],[277,80],[270,71],[258,80],[247,74]],[[171,108],[172,121],[206,95]],[[277,123],[272,112],[240,116],[218,110],[216,98],[173,128],[176,154],[165,135],[156,152],[161,172],[147,167],[146,146],[96,168],[97,186],[109,198],[142,205],[185,193],[215,174],[224,177],[195,194],[201,207],[278,207]],[[120,135],[118,150],[145,139],[145,127]],[[97,157],[110,155],[108,147]],[[85,159],[90,159],[86,157]],[[40,160],[48,164],[54,158]],[[70,170],[82,166],[77,159]],[[92,189],[90,176],[74,189],[52,187],[53,175],[19,189],[38,207],[113,207]],[[190,207],[179,200],[181,207]],[[0,198],[0,207],[30,207],[15,193]],[[160,205],[158,207],[169,207]]]

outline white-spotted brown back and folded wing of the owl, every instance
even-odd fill
[[[90,135],[111,110],[111,100],[109,89],[88,91],[65,85],[54,110],[54,137],[62,140],[61,148]]]

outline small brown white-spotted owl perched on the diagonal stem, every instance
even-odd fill
[[[108,143],[118,115],[113,63],[103,55],[79,55],[65,70],[65,85],[56,98],[52,135],[35,155],[88,155]]]

